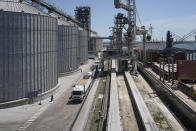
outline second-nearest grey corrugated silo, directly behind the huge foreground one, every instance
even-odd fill
[[[58,72],[74,71],[79,67],[78,27],[58,19]]]

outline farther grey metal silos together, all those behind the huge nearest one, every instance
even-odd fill
[[[56,17],[54,15],[54,17]],[[58,19],[58,72],[67,73],[78,69],[88,60],[87,31],[74,24]]]

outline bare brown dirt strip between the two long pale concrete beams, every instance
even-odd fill
[[[117,76],[118,94],[120,101],[121,122],[123,131],[139,131],[135,114],[132,108],[124,77]]]

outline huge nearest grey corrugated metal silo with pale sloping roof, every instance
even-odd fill
[[[0,9],[0,102],[55,87],[57,19],[18,0],[0,1]]]

